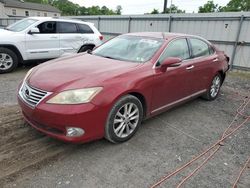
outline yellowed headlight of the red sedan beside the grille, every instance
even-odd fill
[[[76,89],[63,91],[52,97],[47,103],[50,104],[81,104],[90,102],[96,96],[102,87],[93,87],[85,89]]]

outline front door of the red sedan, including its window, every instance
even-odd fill
[[[166,72],[155,69],[153,86],[152,113],[171,107],[189,94],[189,71],[185,60],[190,58],[190,50],[186,38],[170,41],[159,58],[157,66],[168,57],[179,57],[183,60],[178,67],[169,67]]]

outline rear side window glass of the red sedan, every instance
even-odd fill
[[[190,39],[192,51],[193,51],[193,57],[201,57],[201,56],[208,56],[210,55],[210,49],[206,42],[200,40],[191,38]]]

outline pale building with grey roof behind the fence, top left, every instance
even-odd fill
[[[58,17],[61,12],[47,4],[29,3],[23,0],[0,0],[0,17],[48,16]]]

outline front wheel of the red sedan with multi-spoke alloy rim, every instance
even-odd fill
[[[132,95],[120,98],[109,113],[105,125],[105,138],[113,143],[129,140],[138,130],[142,119],[143,107],[138,98]]]

